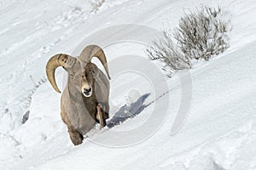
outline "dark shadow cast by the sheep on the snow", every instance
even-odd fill
[[[131,105],[122,106],[119,111],[115,112],[114,115],[107,122],[109,128],[117,126],[125,120],[130,119],[134,116],[140,114],[148,105],[145,105],[144,102],[148,98],[149,94],[142,95],[136,102],[131,103]]]

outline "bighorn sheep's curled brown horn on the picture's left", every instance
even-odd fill
[[[75,58],[67,54],[55,54],[52,56],[46,65],[46,74],[51,86],[57,93],[61,93],[55,82],[55,69],[59,66],[72,67],[75,63]]]

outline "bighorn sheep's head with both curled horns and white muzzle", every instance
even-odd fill
[[[93,57],[100,59],[110,79],[106,56],[102,48],[96,45],[84,48],[78,58],[67,54],[55,54],[51,57],[46,65],[46,74],[55,91],[61,93],[55,82],[55,69],[62,66],[68,73],[68,83],[71,83],[69,85],[73,86],[72,88],[81,90],[84,97],[90,97],[94,90],[92,89],[93,82],[99,74],[97,66],[90,62]],[[82,68],[82,63],[85,64],[84,68]]]

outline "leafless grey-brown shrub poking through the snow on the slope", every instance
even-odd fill
[[[222,18],[221,8],[201,7],[185,14],[172,31],[163,31],[163,37],[146,49],[150,59],[165,63],[169,75],[192,67],[193,59],[208,60],[229,48],[227,32],[230,21]],[[171,71],[171,72],[170,72]]]

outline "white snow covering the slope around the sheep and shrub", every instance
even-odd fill
[[[145,47],[201,4],[227,11],[230,48],[166,79]],[[0,169],[256,169],[255,1],[2,0],[0,8]],[[95,42],[109,62],[114,125],[74,147],[45,65]],[[64,88],[64,71],[55,75]],[[188,115],[177,120],[181,109]]]

